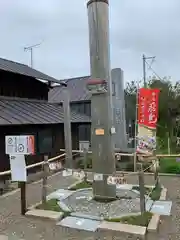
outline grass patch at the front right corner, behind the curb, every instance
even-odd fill
[[[143,215],[106,219],[106,221],[108,221],[108,222],[119,222],[119,223],[125,223],[125,224],[130,224],[130,225],[147,227],[151,218],[152,218],[152,215],[153,214],[150,213],[150,212],[145,212]]]

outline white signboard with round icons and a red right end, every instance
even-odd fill
[[[29,155],[35,153],[34,136],[6,136],[5,137],[6,154],[10,155]]]

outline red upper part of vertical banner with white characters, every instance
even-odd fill
[[[156,128],[159,89],[140,88],[138,93],[138,124]]]

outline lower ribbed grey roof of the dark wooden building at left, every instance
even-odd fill
[[[0,125],[56,124],[64,122],[63,107],[55,103],[0,98],[0,112]],[[90,122],[90,118],[71,111],[71,122]]]

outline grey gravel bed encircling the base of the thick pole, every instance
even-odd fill
[[[120,190],[118,191],[120,192]],[[122,190],[123,195],[136,198],[135,194],[129,190]],[[86,198],[82,198],[86,197]],[[140,212],[140,202],[138,199],[120,199],[109,203],[97,202],[92,199],[92,190],[77,191],[63,201],[74,212],[89,214],[104,218],[124,216],[127,213]]]

